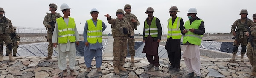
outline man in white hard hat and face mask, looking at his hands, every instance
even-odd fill
[[[194,77],[200,78],[200,50],[202,37],[205,33],[204,21],[196,16],[197,11],[195,8],[190,8],[187,16],[187,20],[184,24],[183,30],[183,58],[188,68],[188,78]]]

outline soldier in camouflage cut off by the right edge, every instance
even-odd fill
[[[246,55],[249,58],[250,64],[253,66],[253,71],[251,75],[256,76],[256,14],[253,14],[253,21],[254,24],[252,25],[252,27],[250,27],[251,36],[249,36],[249,32],[246,32],[246,36],[253,37],[254,47],[252,47],[251,43],[248,42]]]

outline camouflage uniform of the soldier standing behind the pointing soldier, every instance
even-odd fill
[[[134,31],[134,29],[137,30],[137,25],[140,25],[140,22],[138,21],[137,17],[134,14],[130,13],[130,14],[125,14],[125,18],[131,25],[132,31]],[[131,22],[131,19],[137,20],[137,22]],[[130,55],[135,56],[135,50],[134,50],[135,40],[128,37],[128,44],[129,44]]]

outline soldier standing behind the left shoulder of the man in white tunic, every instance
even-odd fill
[[[56,4],[51,3],[49,6],[50,6],[49,9],[51,13],[46,13],[46,16],[44,17],[44,21],[43,21],[45,29],[48,29],[47,31],[47,41],[49,42],[48,56],[44,58],[46,60],[52,59],[52,53],[53,53],[52,33],[55,27],[56,19],[59,17],[62,17],[60,13],[55,12],[57,10]]]

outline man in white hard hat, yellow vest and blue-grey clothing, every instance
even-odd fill
[[[90,11],[91,19],[87,20],[84,25],[84,61],[87,67],[85,72],[90,72],[91,63],[95,56],[97,72],[101,72],[102,65],[102,32],[107,28],[102,20],[97,19],[99,11],[93,8]]]

